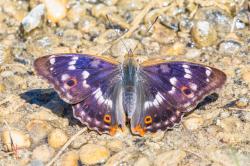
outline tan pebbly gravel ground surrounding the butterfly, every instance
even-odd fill
[[[0,165],[49,165],[80,130],[53,165],[250,165],[249,9],[247,0],[0,0]],[[100,135],[33,62],[54,53],[121,61],[124,43],[138,61],[202,63],[227,82],[171,130]]]

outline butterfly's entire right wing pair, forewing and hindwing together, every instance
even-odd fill
[[[143,63],[139,96],[144,105],[131,119],[135,133],[172,127],[185,112],[220,88],[226,75],[215,68],[189,62]],[[146,89],[146,91],[145,91]]]

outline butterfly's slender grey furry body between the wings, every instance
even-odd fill
[[[131,118],[136,107],[136,85],[138,83],[138,66],[133,58],[128,58],[122,65],[123,108]]]

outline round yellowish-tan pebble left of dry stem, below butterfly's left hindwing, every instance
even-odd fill
[[[54,129],[48,136],[48,143],[53,148],[62,147],[68,140],[68,136],[61,129]]]

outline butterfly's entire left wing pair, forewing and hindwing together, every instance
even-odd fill
[[[121,82],[118,64],[103,57],[59,54],[38,58],[34,67],[73,105],[75,118],[91,129],[106,132],[125,123],[122,110],[115,112]]]

